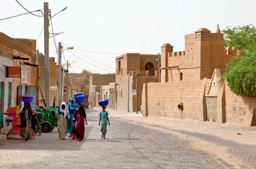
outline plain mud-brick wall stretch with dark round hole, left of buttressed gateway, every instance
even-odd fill
[[[145,86],[147,89],[144,90]],[[143,86],[142,114],[186,119],[203,119],[205,82],[147,83]],[[147,97],[146,97],[147,96]],[[147,104],[146,104],[147,102]],[[183,110],[178,104],[183,102]]]

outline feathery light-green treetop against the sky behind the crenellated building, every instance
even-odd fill
[[[256,43],[256,28],[252,24],[234,28],[228,26],[222,32],[224,33],[225,47],[236,46],[243,50]]]

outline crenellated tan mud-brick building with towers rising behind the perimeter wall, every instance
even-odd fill
[[[210,78],[215,68],[224,74],[226,64],[238,53],[235,47],[224,48],[222,33],[210,33],[208,29],[200,28],[185,35],[184,51],[173,52],[169,43],[161,46],[161,82]]]

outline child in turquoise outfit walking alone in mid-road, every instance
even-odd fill
[[[107,133],[107,125],[110,125],[109,123],[109,119],[108,119],[108,112],[105,111],[106,110],[106,106],[102,106],[102,111],[99,113],[100,116],[100,120],[99,120],[99,126],[101,125],[101,138],[103,138],[103,140],[105,140],[105,136]]]

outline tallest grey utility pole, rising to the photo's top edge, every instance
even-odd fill
[[[48,2],[43,2],[44,33],[45,33],[45,102],[49,107],[49,8]]]

